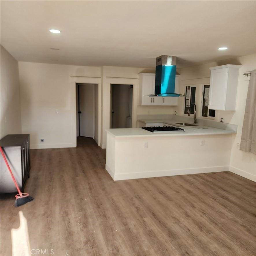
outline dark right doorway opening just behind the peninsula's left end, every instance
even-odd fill
[[[133,85],[110,85],[111,128],[131,128]]]

